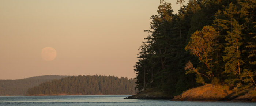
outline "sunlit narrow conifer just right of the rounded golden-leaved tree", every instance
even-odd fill
[[[227,74],[226,83],[229,83],[231,86],[235,86],[239,83],[239,75],[241,74],[241,65],[244,61],[241,58],[241,48],[242,45],[242,25],[239,25],[238,22],[233,19],[232,21],[232,31],[227,31],[228,35],[226,36],[226,47],[225,47],[225,56],[223,60],[225,63],[225,71]]]

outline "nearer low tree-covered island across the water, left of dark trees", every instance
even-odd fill
[[[70,76],[29,88],[27,95],[135,94],[135,79],[115,76]]]

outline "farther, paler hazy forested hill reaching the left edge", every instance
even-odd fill
[[[42,82],[61,79],[68,76],[44,75],[17,80],[0,80],[0,95],[26,95],[27,89]]]

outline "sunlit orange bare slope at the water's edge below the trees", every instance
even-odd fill
[[[256,101],[256,91],[234,92],[226,85],[206,84],[175,96],[173,101]]]

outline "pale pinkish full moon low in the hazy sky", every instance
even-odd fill
[[[42,59],[45,61],[53,61],[56,55],[56,50],[52,47],[45,47],[41,52]]]

